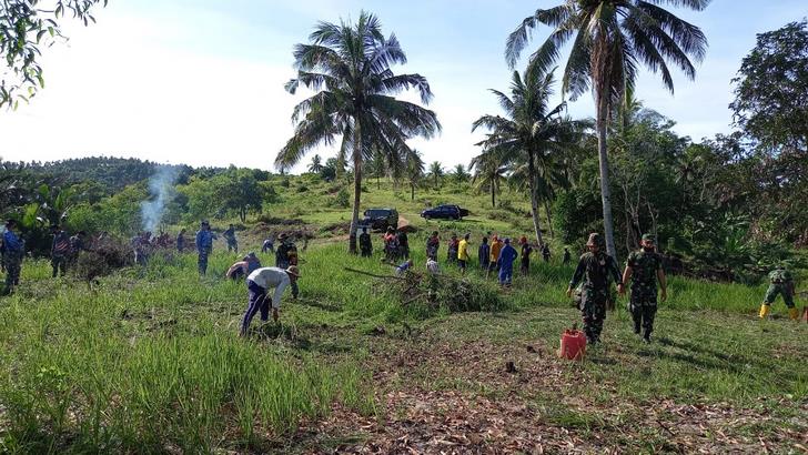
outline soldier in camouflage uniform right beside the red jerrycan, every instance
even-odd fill
[[[603,322],[606,318],[606,301],[608,300],[608,279],[617,283],[617,291],[623,292],[620,271],[614,257],[605,252],[603,239],[597,233],[589,234],[586,246],[588,253],[580,256],[578,267],[567,287],[567,296],[584,280],[580,294],[580,312],[584,318],[586,340],[594,344],[600,341]]]

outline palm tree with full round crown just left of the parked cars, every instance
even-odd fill
[[[320,22],[310,44],[294,48],[297,77],[286,84],[290,93],[304,85],[316,92],[294,108],[294,135],[275,158],[289,168],[311,149],[331,145],[342,136],[339,159],[353,162],[354,198],[349,251],[356,253],[362,163],[378,149],[396,153],[412,136],[432,138],[441,130],[433,111],[395,99],[415,89],[421,102],[432,100],[432,90],[420,74],[394,74],[391,67],[406,63],[394,34],[385,38],[378,19],[362,11],[356,23]]]

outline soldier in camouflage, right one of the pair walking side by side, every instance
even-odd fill
[[[639,335],[643,330],[643,341],[650,343],[650,333],[654,332],[654,316],[657,310],[657,280],[661,293],[659,299],[667,300],[667,283],[663,270],[663,257],[654,249],[654,235],[643,234],[640,250],[632,252],[626,261],[623,272],[623,283],[632,280],[632,297],[628,310],[634,320],[634,333]],[[625,292],[625,287],[624,287]]]

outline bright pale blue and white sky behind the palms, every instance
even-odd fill
[[[295,75],[292,48],[317,21],[367,10],[395,33],[407,54],[397,73],[420,73],[435,94],[428,105],[441,135],[413,140],[426,162],[467,165],[479,153],[472,122],[499,109],[489,89],[507,90],[505,39],[535,11],[559,0],[110,0],[98,23],[64,22],[70,38],[43,50],[46,88],[17,111],[0,112],[8,161],[107,155],[159,163],[273,170],[293,132],[294,105],[283,84]],[[695,81],[675,74],[675,94],[644,71],[637,98],[698,141],[731,131],[731,79],[756,33],[808,16],[806,0],[714,0],[700,12],[674,9],[709,41]],[[528,52],[548,30],[539,30]],[[525,53],[525,55],[528,54]],[[563,62],[562,62],[563,64]],[[519,63],[524,68],[525,59]],[[560,102],[560,94],[556,95]],[[414,97],[413,97],[414,99]],[[569,103],[594,115],[590,95]],[[293,172],[301,172],[314,153]]]

